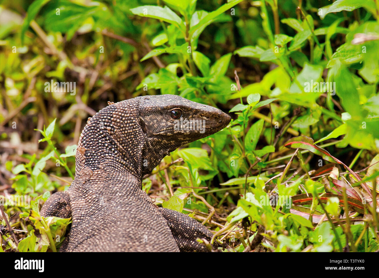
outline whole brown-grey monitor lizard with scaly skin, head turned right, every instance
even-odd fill
[[[183,119],[205,120],[203,133],[176,130],[172,110]],[[229,122],[221,110],[176,95],[128,99],[89,118],[78,142],[74,182],[41,209],[45,217],[72,217],[60,251],[208,251],[196,238],[209,240],[212,233],[183,213],[154,205],[142,178],[179,146]]]

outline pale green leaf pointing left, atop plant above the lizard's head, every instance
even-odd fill
[[[162,8],[160,6],[146,5],[130,9],[130,11],[138,16],[163,20],[165,22],[176,25],[182,31],[185,31],[183,20],[168,6],[164,6],[164,8]]]

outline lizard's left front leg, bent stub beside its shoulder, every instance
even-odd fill
[[[71,217],[70,197],[66,192],[57,192],[50,196],[41,208],[41,216]]]

